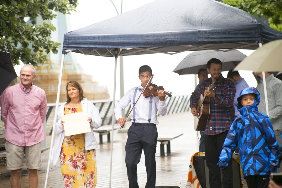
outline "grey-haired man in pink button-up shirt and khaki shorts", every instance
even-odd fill
[[[29,174],[29,188],[38,185],[37,169],[41,168],[41,141],[45,139],[45,92],[34,86],[36,77],[32,65],[20,71],[21,82],[8,87],[1,97],[1,114],[6,128],[7,169],[11,170],[11,187],[20,188],[24,154]]]

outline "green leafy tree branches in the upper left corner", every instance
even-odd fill
[[[69,14],[75,11],[78,0],[9,0],[0,3],[0,50],[11,53],[15,65],[21,60],[25,64],[43,64],[50,52],[58,53],[59,43],[51,40],[56,28],[50,20],[56,11]],[[27,24],[23,18],[35,20],[41,17],[41,25]]]

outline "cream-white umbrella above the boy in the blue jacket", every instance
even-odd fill
[[[264,44],[239,63],[234,70],[277,72],[282,70],[282,40]]]

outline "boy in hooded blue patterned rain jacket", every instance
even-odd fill
[[[279,148],[269,117],[258,111],[259,91],[244,88],[237,98],[241,113],[232,123],[217,165],[225,168],[236,146],[248,188],[267,188],[270,172],[277,172]]]

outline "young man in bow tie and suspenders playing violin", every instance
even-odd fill
[[[133,87],[119,100],[114,109],[115,118],[120,126],[123,127],[126,118],[122,117],[122,110],[124,110],[129,103],[131,103],[132,108],[137,99],[139,99],[133,108],[133,113],[130,114],[132,124],[128,129],[128,139],[125,145],[125,163],[129,188],[139,187],[137,182],[137,164],[140,161],[142,149],[145,155],[145,165],[147,170],[147,183],[145,188],[155,188],[155,154],[158,138],[156,125],[159,124],[157,120],[157,112],[159,111],[161,116],[166,114],[166,94],[164,90],[157,90],[157,95],[155,97],[150,95],[146,98],[140,95],[144,87],[149,86],[151,79],[154,77],[152,69],[148,65],[143,65],[139,68],[138,77],[141,81],[141,85]]]

